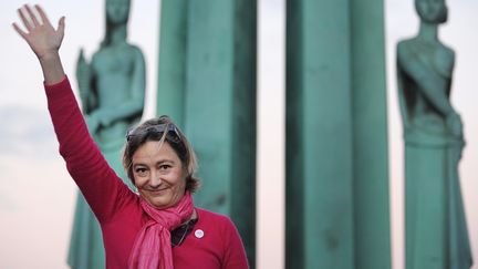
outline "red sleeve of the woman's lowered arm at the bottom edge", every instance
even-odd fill
[[[222,268],[247,269],[249,268],[249,265],[239,231],[230,218],[226,219],[227,223],[224,230],[225,257],[222,260]]]

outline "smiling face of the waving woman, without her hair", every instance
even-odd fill
[[[146,142],[133,154],[132,163],[135,186],[152,206],[164,209],[183,198],[186,170],[169,143]]]

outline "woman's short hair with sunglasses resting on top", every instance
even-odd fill
[[[133,155],[148,141],[167,142],[187,172],[186,190],[194,193],[199,188],[199,179],[194,176],[197,169],[196,154],[183,132],[166,115],[148,120],[126,134],[123,167],[133,184]]]

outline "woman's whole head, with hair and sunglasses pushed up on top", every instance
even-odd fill
[[[149,120],[126,138],[123,165],[149,204],[167,208],[178,203],[186,190],[198,188],[199,180],[194,177],[196,155],[169,117]]]

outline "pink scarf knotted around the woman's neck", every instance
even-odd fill
[[[173,269],[170,230],[187,220],[194,211],[193,198],[186,192],[174,207],[156,209],[143,198],[141,205],[152,218],[136,236],[128,269]]]

